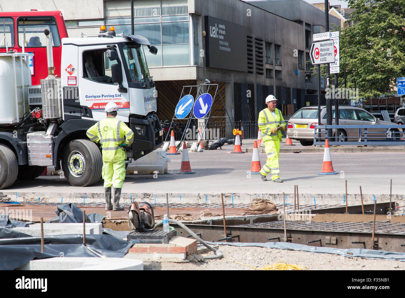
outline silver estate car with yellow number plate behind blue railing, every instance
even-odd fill
[[[332,112],[333,124],[335,124],[335,107]],[[354,106],[339,106],[339,125],[392,125],[394,123],[379,120],[375,118],[365,109]],[[300,141],[303,146],[311,146],[313,144],[313,131],[318,125],[318,107],[303,107],[296,111],[288,120],[287,136],[290,139]],[[326,106],[321,106],[321,124],[326,125]],[[399,137],[396,132],[398,129],[390,129],[392,137]],[[333,133],[335,136],[335,132]],[[339,141],[357,141],[358,129],[339,129]],[[325,130],[321,130],[320,137],[325,137]],[[362,132],[362,137],[364,133]],[[367,139],[382,139],[386,138],[386,133],[382,133],[382,129],[368,129]]]

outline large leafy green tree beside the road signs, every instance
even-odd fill
[[[340,34],[339,83],[359,88],[362,98],[393,94],[405,76],[405,0],[349,0],[356,9]]]

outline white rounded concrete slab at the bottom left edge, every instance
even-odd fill
[[[17,270],[143,270],[143,262],[119,257],[52,257],[32,260]]]

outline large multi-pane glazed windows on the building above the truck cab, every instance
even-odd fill
[[[115,27],[115,32],[131,33],[131,10],[117,8],[117,2],[105,1],[105,16],[107,28]],[[124,2],[124,1],[123,1]],[[128,1],[129,3],[129,1]],[[136,1],[134,3],[134,33],[145,36],[151,45],[158,48],[158,54],[149,53],[145,47],[148,66],[190,65],[190,26],[192,34],[198,31],[198,26],[190,25],[187,1],[177,1],[175,5],[167,0]],[[197,49],[197,39],[193,36],[192,43]],[[198,37],[198,36],[197,36]],[[196,51],[192,59],[196,59]]]

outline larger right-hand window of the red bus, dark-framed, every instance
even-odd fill
[[[22,47],[45,47],[44,30],[52,34],[52,45],[60,46],[60,37],[55,19],[44,17],[20,17],[18,19],[18,45]]]

